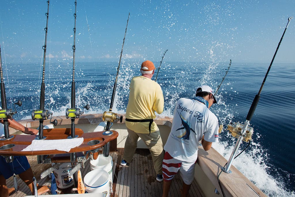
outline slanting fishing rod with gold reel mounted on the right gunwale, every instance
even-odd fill
[[[263,86],[264,86],[264,84],[265,84],[265,82],[266,82],[266,78],[267,78],[268,73],[269,73],[269,71],[270,71],[270,69],[271,69],[271,66],[272,66],[272,64],[273,64],[273,61],[274,61],[274,59],[275,59],[275,57],[276,57],[276,53],[278,52],[278,49],[279,49],[279,47],[280,47],[280,45],[281,45],[281,42],[282,42],[283,37],[284,37],[284,34],[285,34],[285,32],[286,32],[286,30],[287,30],[287,28],[288,28],[288,26],[289,26],[289,22],[291,21],[292,18],[293,18],[293,17],[289,17],[289,18],[288,18],[288,23],[287,23],[287,25],[286,25],[286,28],[285,28],[285,30],[284,30],[284,32],[283,32],[283,35],[282,35],[282,37],[281,37],[280,42],[278,43],[278,46],[277,46],[277,48],[276,48],[276,52],[275,52],[275,54],[273,55],[273,58],[272,58],[272,60],[271,60],[271,64],[270,64],[269,67],[268,67],[268,70],[267,70],[266,75],[265,75],[265,77],[264,77],[264,79],[263,79],[263,82],[262,82],[261,87],[260,87],[260,89],[259,89],[259,91],[258,91],[258,94],[255,95],[255,98],[254,98],[254,100],[253,100],[253,102],[252,102],[252,105],[251,105],[251,107],[250,107],[250,109],[249,109],[249,112],[248,112],[248,114],[247,114],[247,117],[246,117],[246,121],[245,121],[245,123],[244,123],[244,124],[241,124],[241,123],[237,122],[237,123],[235,123],[235,125],[231,125],[231,124],[228,124],[228,125],[227,125],[227,130],[229,130],[229,133],[230,133],[232,136],[234,136],[234,137],[237,138],[237,142],[236,142],[235,147],[234,147],[234,149],[233,149],[233,151],[232,151],[232,154],[230,155],[230,159],[229,159],[228,162],[224,165],[225,167],[222,168],[222,171],[221,171],[221,172],[231,173],[231,171],[230,171],[230,167],[231,167],[231,165],[232,165],[233,160],[234,160],[238,155],[241,154],[241,153],[240,153],[240,154],[238,154],[237,156],[235,156],[236,153],[237,153],[237,150],[238,150],[239,147],[240,147],[240,144],[242,143],[242,141],[249,142],[249,144],[250,144],[250,142],[252,141],[253,127],[250,127],[250,126],[249,126],[249,125],[250,125],[250,121],[251,121],[252,116],[253,116],[253,114],[254,114],[254,112],[255,112],[255,109],[256,109],[256,107],[257,107],[257,105],[258,105],[258,101],[259,101],[259,99],[260,99],[260,94],[261,94],[262,88],[263,88]],[[244,149],[244,150],[245,150],[245,149]],[[244,151],[244,150],[243,150],[243,151]],[[242,151],[242,152],[243,152],[243,151]],[[221,172],[220,172],[220,173],[221,173]],[[219,174],[219,175],[220,175],[220,174]],[[219,180],[218,180],[218,181],[219,181]],[[220,183],[219,183],[219,185],[220,185]],[[221,188],[221,190],[222,190],[222,194],[223,194],[223,196],[225,196],[225,195],[224,195],[224,191],[223,191],[221,185],[220,185],[220,188]]]

